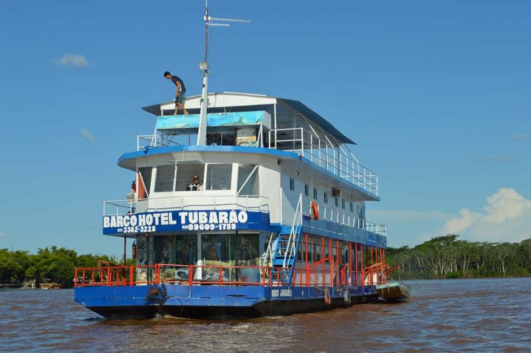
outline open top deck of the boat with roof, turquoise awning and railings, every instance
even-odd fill
[[[137,136],[137,150],[190,145],[199,126],[200,96],[186,98],[189,115],[172,115],[173,101],[144,107],[157,116],[155,132]],[[356,144],[299,101],[259,94],[208,95],[207,144],[295,152],[345,183],[379,200],[378,175],[358,162],[348,148]]]

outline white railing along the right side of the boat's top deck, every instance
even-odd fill
[[[297,152],[342,179],[378,196],[378,175],[361,165],[350,153],[322,140],[303,127],[278,128],[268,132],[268,148]]]

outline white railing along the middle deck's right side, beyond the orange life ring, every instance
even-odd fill
[[[301,194],[301,197],[303,210],[302,212],[305,216],[311,217],[312,200],[309,197],[304,196],[303,194]],[[348,214],[346,212],[341,212],[336,209],[330,208],[329,206],[324,206],[318,203],[316,203],[316,205],[317,209],[319,210],[319,219],[339,223],[340,225],[344,226],[363,229],[387,237],[386,225],[379,225],[373,222],[369,222],[364,219],[353,216],[352,214]]]

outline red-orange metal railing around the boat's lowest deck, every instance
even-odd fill
[[[332,256],[293,270],[292,286],[375,285],[387,283],[389,273],[397,267],[375,263],[362,271],[348,271],[348,264],[332,262]],[[328,269],[324,264],[332,263]],[[318,266],[321,265],[318,269]],[[108,266],[75,269],[75,287],[136,286],[159,283],[219,286],[281,286],[288,280],[281,268],[269,266],[215,266],[155,264],[140,266]],[[289,270],[289,269],[287,269]],[[374,280],[376,275],[376,280]]]

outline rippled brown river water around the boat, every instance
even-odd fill
[[[245,321],[106,321],[73,290],[0,291],[2,352],[531,352],[531,278],[407,281],[413,298]]]

